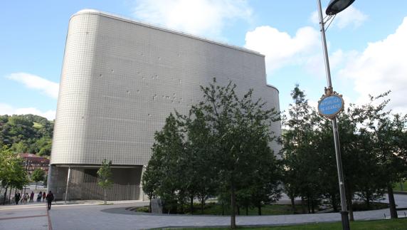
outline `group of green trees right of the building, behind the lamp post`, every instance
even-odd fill
[[[388,93],[371,97],[365,105],[349,105],[338,115],[339,140],[347,197],[353,220],[352,199],[370,202],[388,192],[392,216],[396,209],[392,184],[406,177],[406,115],[386,110]],[[314,199],[329,199],[338,211],[339,186],[331,120],[310,108],[305,93],[292,90],[290,119],[282,134],[285,192],[301,197],[309,212]],[[392,204],[393,203],[393,204]]]

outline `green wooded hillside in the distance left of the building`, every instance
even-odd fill
[[[0,145],[17,153],[51,155],[53,121],[38,115],[0,115]]]

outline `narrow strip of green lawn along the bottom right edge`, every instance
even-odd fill
[[[357,230],[370,230],[370,229],[393,229],[393,230],[403,230],[406,229],[407,219],[386,219],[386,220],[377,220],[377,221],[351,221],[351,229]],[[199,229],[208,229],[208,230],[225,230],[230,228],[199,228]],[[332,223],[318,223],[318,224],[299,224],[291,226],[262,226],[262,227],[241,227],[238,226],[238,229],[273,229],[273,230],[322,230],[322,229],[332,229],[332,230],[341,230],[341,222],[332,222]],[[187,230],[187,229],[184,229]]]

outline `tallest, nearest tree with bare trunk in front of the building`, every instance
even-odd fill
[[[256,150],[263,147],[263,140],[267,143],[275,140],[270,125],[279,118],[261,99],[253,102],[253,90],[239,98],[235,89],[231,82],[221,86],[213,79],[208,87],[201,86],[203,101],[197,105],[215,140],[213,161],[221,188],[227,188],[231,194],[231,228],[236,228],[236,192],[258,168],[261,160]]]

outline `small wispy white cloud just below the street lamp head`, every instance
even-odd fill
[[[323,17],[325,17],[325,11],[323,11],[322,13]],[[332,26],[337,26],[338,28],[353,26],[354,28],[357,28],[361,26],[361,24],[364,23],[364,21],[366,21],[367,19],[368,16],[366,14],[363,14],[354,6],[349,6],[347,9],[335,16],[335,19],[332,22]],[[310,20],[312,21],[312,23],[319,24],[319,16],[317,11],[312,12]]]

